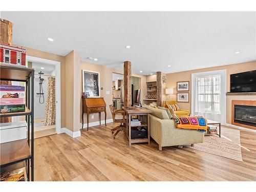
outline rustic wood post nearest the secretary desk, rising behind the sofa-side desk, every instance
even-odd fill
[[[132,63],[125,61],[123,63],[123,101],[124,106],[131,106],[132,104]]]

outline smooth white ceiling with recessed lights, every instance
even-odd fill
[[[13,23],[14,44],[59,55],[74,49],[82,60],[117,69],[130,60],[132,71],[144,75],[256,60],[255,12],[2,12],[1,17]]]

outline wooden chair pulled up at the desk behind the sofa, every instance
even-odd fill
[[[114,123],[120,123],[120,125],[116,126],[115,128],[111,129],[113,137],[115,139],[116,135],[120,131],[125,131],[125,111],[120,109],[120,110],[114,110],[113,105],[110,104],[110,111],[112,113],[112,118]],[[114,133],[114,131],[116,131]]]

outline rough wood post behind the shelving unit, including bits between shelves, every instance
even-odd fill
[[[2,18],[0,18],[0,42],[12,46],[12,23]],[[11,86],[12,82],[1,80],[0,84]],[[1,117],[0,122],[11,122],[11,117]]]

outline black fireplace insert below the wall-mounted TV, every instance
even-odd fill
[[[235,104],[234,122],[256,126],[256,106]]]

